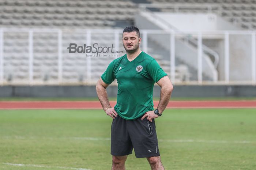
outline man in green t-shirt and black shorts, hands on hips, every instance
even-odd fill
[[[113,60],[96,85],[99,101],[113,118],[111,126],[112,170],[125,170],[125,161],[134,148],[136,158],[147,158],[152,170],[164,170],[158,149],[154,119],[167,106],[173,85],[154,58],[140,50],[137,27],[126,27],[123,45],[127,52]],[[117,104],[111,107],[106,88],[117,79]],[[153,86],[161,87],[154,111]]]

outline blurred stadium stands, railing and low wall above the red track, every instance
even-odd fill
[[[0,96],[95,97],[90,85],[125,53],[122,31],[135,25],[142,50],[176,85],[174,96],[253,97],[255,5],[254,0],[1,0]],[[88,57],[94,53],[68,53],[71,43],[113,44],[114,50],[104,53],[108,57]],[[56,86],[82,86],[74,91],[85,93],[57,94]]]

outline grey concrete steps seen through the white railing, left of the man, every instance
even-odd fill
[[[34,81],[58,80],[58,37],[57,33],[37,33],[33,37]],[[111,41],[113,40],[113,41]],[[63,32],[62,70],[64,82],[79,82],[87,79],[88,57],[84,53],[68,53],[69,43],[86,44],[86,33]],[[91,44],[111,46],[114,34],[92,34]],[[120,44],[122,42],[120,41]],[[90,57],[91,80],[97,81],[114,57]],[[29,79],[29,34],[4,33],[4,79],[22,81]]]

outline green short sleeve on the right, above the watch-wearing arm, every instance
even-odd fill
[[[155,59],[150,61],[147,70],[154,82],[158,82],[163,76],[167,76]]]

